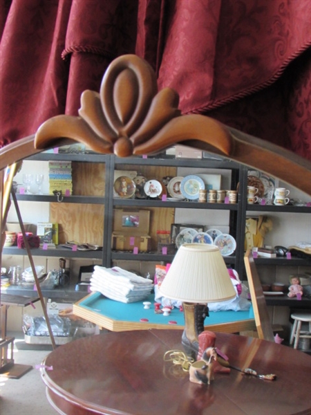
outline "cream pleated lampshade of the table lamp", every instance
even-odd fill
[[[236,297],[220,250],[200,243],[180,246],[159,291],[164,297],[192,303]]]

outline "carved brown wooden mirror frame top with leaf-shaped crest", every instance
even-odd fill
[[[310,161],[207,116],[182,116],[178,102],[173,89],[158,92],[156,74],[144,59],[117,57],[104,74],[100,93],[82,93],[79,116],[50,118],[34,135],[3,147],[0,170],[73,142],[120,157],[156,154],[179,143],[261,170],[311,194]]]

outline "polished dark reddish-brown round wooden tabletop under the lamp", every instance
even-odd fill
[[[241,335],[216,333],[216,347],[234,367],[211,385],[189,374],[164,353],[178,349],[182,331],[108,332],[55,349],[41,376],[48,400],[60,414],[289,415],[311,414],[311,357],[290,347]],[[51,368],[53,367],[53,369]]]

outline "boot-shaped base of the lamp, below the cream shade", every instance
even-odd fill
[[[182,333],[182,346],[187,353],[196,359],[199,343],[198,335],[204,331],[204,320],[209,315],[207,304],[183,303],[185,330]]]

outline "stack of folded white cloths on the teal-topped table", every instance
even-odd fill
[[[151,279],[139,277],[118,266],[104,268],[95,265],[91,282],[91,291],[98,291],[116,301],[130,303],[148,297],[153,288]]]

